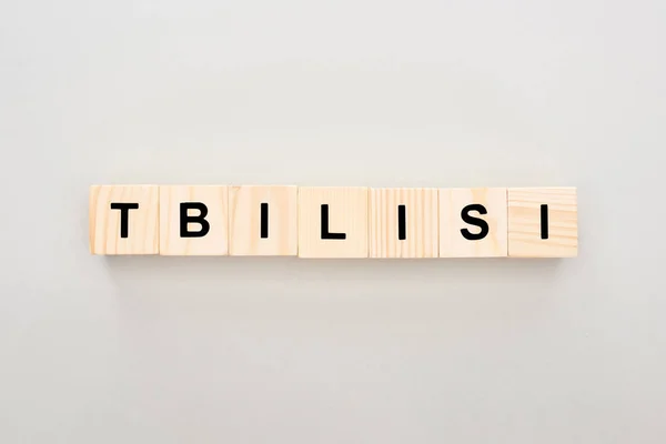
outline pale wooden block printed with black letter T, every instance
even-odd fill
[[[90,188],[89,234],[92,254],[159,253],[159,186]]]

